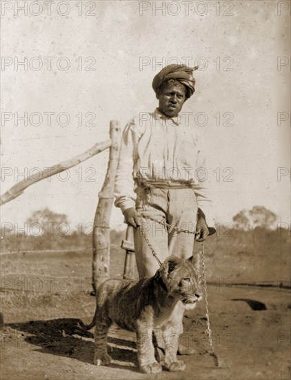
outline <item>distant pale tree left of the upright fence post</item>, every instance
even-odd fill
[[[66,236],[70,234],[68,215],[55,213],[48,209],[37,210],[26,220],[30,235],[41,236],[43,234],[59,234]]]

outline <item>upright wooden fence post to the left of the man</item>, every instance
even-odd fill
[[[92,286],[97,287],[109,278],[110,270],[110,215],[114,198],[114,180],[121,144],[121,129],[117,120],[110,121],[110,153],[108,169],[103,187],[99,193],[99,202],[93,227]]]

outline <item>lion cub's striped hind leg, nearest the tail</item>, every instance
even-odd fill
[[[109,327],[111,325],[110,321],[100,321],[96,319],[96,327],[94,331],[95,338],[95,352],[94,352],[94,364],[95,365],[108,365],[111,363],[111,357],[107,352],[107,334]]]

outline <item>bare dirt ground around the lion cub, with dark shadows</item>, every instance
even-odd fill
[[[283,284],[288,272],[281,265],[281,286],[267,281],[235,285],[250,283],[243,274],[249,258],[242,259],[243,253],[237,257],[231,267],[237,265],[241,276],[234,276],[233,269],[232,276],[221,269],[217,278],[209,272],[210,323],[221,366],[216,368],[207,352],[201,301],[183,321],[184,343],[197,348],[197,354],[183,357],[186,370],[147,375],[137,368],[134,334],[117,327],[109,337],[112,364],[92,364],[92,330],[82,327],[94,314],[90,249],[2,255],[1,379],[290,379],[290,288]],[[229,260],[228,265],[225,258],[219,260],[230,267]],[[113,250],[111,262],[111,275],[121,278],[124,254]],[[211,257],[209,263],[211,267]],[[261,280],[256,273],[253,279]],[[279,277],[269,283],[278,283]]]

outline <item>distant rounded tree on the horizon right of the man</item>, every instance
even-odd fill
[[[237,229],[255,229],[256,227],[272,228],[277,216],[263,206],[254,206],[251,210],[241,210],[232,218]]]

